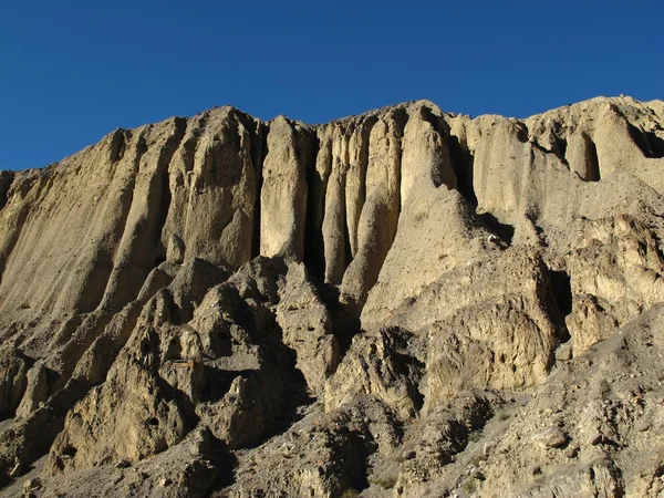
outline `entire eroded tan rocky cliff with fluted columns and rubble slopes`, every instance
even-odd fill
[[[664,103],[231,107],[0,173],[6,496],[658,496]]]

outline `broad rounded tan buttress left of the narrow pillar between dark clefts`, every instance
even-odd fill
[[[157,258],[232,268],[251,259],[263,134],[260,123],[229,107],[187,123],[162,179],[170,201],[160,214]]]

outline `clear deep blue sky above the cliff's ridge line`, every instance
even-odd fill
[[[429,98],[664,98],[664,2],[2,0],[0,169],[230,104],[310,123]]]

